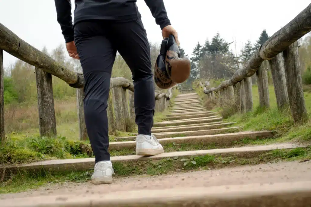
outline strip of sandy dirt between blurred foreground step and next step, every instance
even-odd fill
[[[1,200],[23,198],[40,195],[65,194],[94,194],[115,191],[130,191],[140,189],[165,189],[182,187],[211,187],[220,185],[237,185],[251,183],[276,183],[311,181],[311,161],[280,162],[260,164],[218,170],[204,170],[187,173],[174,173],[162,176],[135,176],[129,178],[115,178],[109,185],[92,185],[86,183],[66,183],[58,186],[42,187],[38,190],[0,195]]]

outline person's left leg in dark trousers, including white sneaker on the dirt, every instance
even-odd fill
[[[107,101],[116,50],[101,31],[99,22],[75,26],[75,43],[84,74],[84,114],[87,133],[95,155],[92,182],[112,182],[113,168],[108,152]]]

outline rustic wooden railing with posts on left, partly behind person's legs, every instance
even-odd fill
[[[71,87],[77,88],[77,109],[81,140],[87,139],[84,121],[83,74],[69,70],[64,65],[54,61],[50,56],[26,43],[11,30],[0,23],[0,142],[5,141],[4,132],[4,83],[3,83],[3,50],[26,63],[35,66],[40,136],[55,136],[56,118],[54,110],[52,75],[62,79]],[[127,131],[129,124],[135,120],[134,113],[134,85],[124,78],[110,79],[108,100],[109,134],[116,130]],[[166,92],[156,92],[156,111],[162,112],[169,106],[172,89]]]

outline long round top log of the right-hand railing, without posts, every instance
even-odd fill
[[[256,73],[262,61],[270,60],[278,53],[284,51],[290,44],[303,37],[311,31],[311,4],[301,11],[293,20],[273,34],[268,40],[259,47],[247,65],[234,72],[231,79],[222,82],[214,90],[227,88],[238,83],[244,78],[251,77]],[[210,93],[213,89],[204,91]]]

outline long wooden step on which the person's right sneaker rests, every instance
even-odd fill
[[[154,156],[140,156],[140,155],[127,155],[111,157],[112,162],[129,162],[138,160],[159,160],[170,157],[188,157],[188,156],[202,156],[202,155],[234,155],[243,157],[257,157],[262,152],[267,152],[275,149],[294,149],[297,147],[306,147],[306,145],[295,145],[289,143],[250,146],[250,147],[236,147],[227,149],[213,149],[213,150],[197,150],[197,151],[179,151],[162,153]],[[39,171],[45,169],[46,171],[68,171],[68,170],[88,170],[94,169],[95,158],[82,158],[82,159],[68,159],[68,160],[46,160],[34,162],[30,164],[17,164],[17,165],[0,165],[0,173],[8,176],[11,173],[18,173],[21,170],[34,170]],[[3,172],[4,170],[4,172]]]

